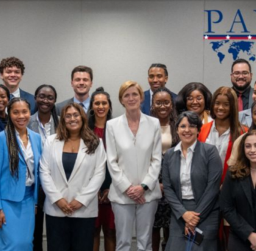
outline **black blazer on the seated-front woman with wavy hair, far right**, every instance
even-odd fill
[[[221,211],[230,223],[232,233],[243,241],[256,229],[250,178],[249,175],[243,179],[233,179],[228,171],[221,188]]]

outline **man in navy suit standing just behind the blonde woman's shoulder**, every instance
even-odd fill
[[[150,115],[153,92],[160,87],[164,87],[168,80],[168,71],[166,65],[152,64],[149,68],[148,75],[150,89],[144,92],[144,101],[141,103],[141,112]],[[177,94],[171,92],[171,97],[173,100],[175,100]]]

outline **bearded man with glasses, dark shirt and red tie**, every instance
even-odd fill
[[[252,81],[252,68],[245,59],[237,59],[232,63],[231,81],[233,89],[238,95],[238,111],[249,109],[252,106],[253,88],[250,86]]]

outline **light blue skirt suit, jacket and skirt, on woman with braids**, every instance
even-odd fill
[[[38,200],[38,167],[42,151],[40,135],[29,131],[34,155],[35,183],[26,186],[26,163],[20,156],[18,178],[12,176],[5,131],[0,133],[0,209],[6,225],[0,229],[1,251],[32,251],[35,227],[35,204]]]

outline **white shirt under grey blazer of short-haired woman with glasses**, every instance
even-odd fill
[[[187,150],[187,157],[182,153],[182,142],[174,148],[174,152],[180,151],[180,186],[182,192],[182,200],[193,200],[193,191],[191,186],[191,164],[193,159],[193,151],[196,147],[197,140]]]

